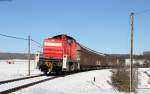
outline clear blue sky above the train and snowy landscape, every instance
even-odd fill
[[[0,1],[0,33],[42,43],[57,34],[102,53],[129,53],[130,12],[150,9],[149,0]],[[150,50],[150,12],[135,15],[134,53]],[[27,41],[0,36],[1,52],[27,52]],[[32,43],[32,52],[40,50]]]

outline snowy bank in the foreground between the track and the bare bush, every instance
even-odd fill
[[[109,69],[82,72],[38,84],[15,94],[116,94]],[[95,82],[94,82],[95,77]]]

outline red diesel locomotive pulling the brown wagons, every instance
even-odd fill
[[[64,34],[44,39],[39,68],[45,74],[78,70],[79,64],[75,57],[76,46],[76,40]]]

